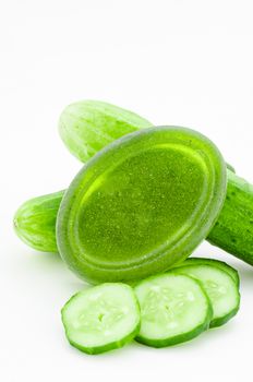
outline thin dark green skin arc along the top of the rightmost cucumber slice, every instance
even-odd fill
[[[239,278],[238,271],[234,270],[234,267],[232,267],[231,265],[228,265],[227,263],[225,263],[224,261],[220,261],[220,260],[206,259],[206,258],[189,258],[185,261],[183,261],[182,263],[179,263],[177,266],[205,265],[205,264],[216,266],[216,267],[227,272],[232,277],[232,279],[234,280],[237,286],[239,287],[240,278]]]

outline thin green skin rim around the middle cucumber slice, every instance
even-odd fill
[[[167,273],[177,275],[177,272],[173,272],[173,270],[168,271]],[[157,276],[159,276],[159,275],[150,276],[150,277],[148,277],[148,279],[155,279]],[[174,345],[179,345],[179,344],[185,343],[188,341],[191,341],[209,329],[209,324],[210,324],[210,321],[213,318],[213,308],[212,308],[210,300],[209,300],[205,289],[203,288],[203,285],[196,278],[189,276],[189,275],[184,275],[184,276],[192,278],[200,286],[203,295],[206,298],[207,309],[206,309],[206,317],[205,317],[205,320],[203,321],[203,323],[201,323],[198,326],[196,326],[193,331],[190,331],[188,333],[182,333],[182,334],[176,335],[173,337],[169,337],[169,338],[154,339],[154,338],[143,337],[138,334],[135,337],[136,342],[138,342],[140,344],[143,344],[143,345],[155,347],[155,348],[169,347],[169,346],[174,346]],[[141,284],[145,280],[137,283],[135,286],[137,286],[138,284]]]

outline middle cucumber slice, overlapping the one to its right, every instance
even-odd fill
[[[137,342],[153,347],[171,346],[208,329],[212,306],[194,278],[168,272],[141,282],[134,290],[141,306]]]

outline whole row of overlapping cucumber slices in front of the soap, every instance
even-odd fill
[[[131,287],[104,283],[74,295],[62,309],[71,345],[87,354],[120,348],[134,338],[153,347],[177,345],[224,325],[239,310],[238,272],[192,258]]]

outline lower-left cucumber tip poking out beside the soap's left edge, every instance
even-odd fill
[[[64,191],[31,199],[16,211],[13,225],[16,235],[29,247],[43,252],[58,252],[57,213]]]

